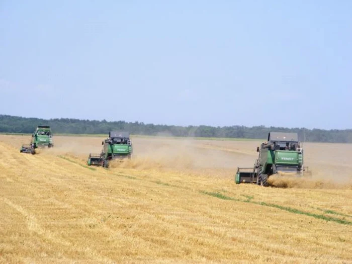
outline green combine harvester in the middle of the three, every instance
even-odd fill
[[[102,142],[100,154],[89,154],[87,164],[108,167],[113,159],[126,160],[132,158],[132,140],[128,132],[110,131],[109,138]]]

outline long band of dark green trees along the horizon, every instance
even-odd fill
[[[297,132],[300,141],[352,143],[352,129],[322,130],[265,126],[168,126],[106,120],[39,119],[0,115],[0,133],[32,133],[38,125],[49,125],[53,133],[106,134],[109,131],[128,131],[133,135],[165,135],[175,137],[218,137],[266,139],[269,131]]]

